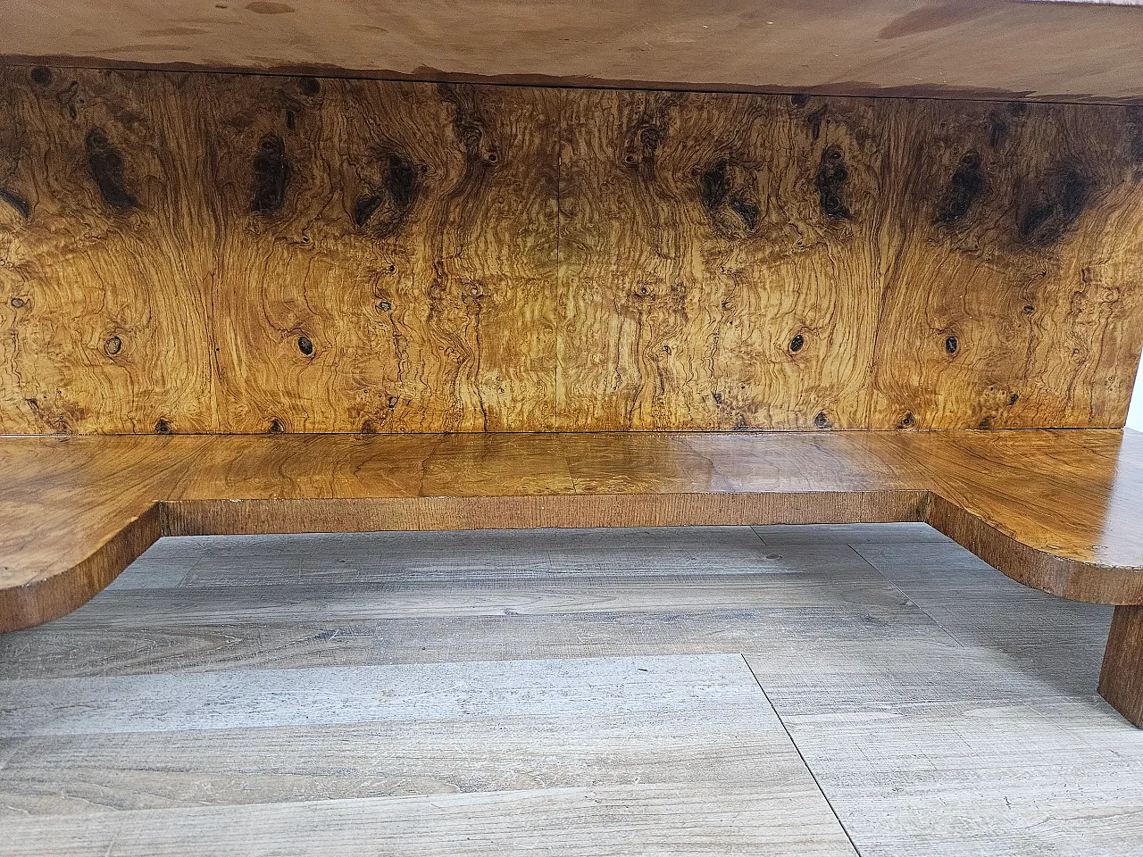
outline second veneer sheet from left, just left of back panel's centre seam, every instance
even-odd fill
[[[232,431],[554,427],[543,90],[234,78],[213,151]],[[206,94],[205,94],[206,95]],[[251,205],[280,141],[283,200]]]

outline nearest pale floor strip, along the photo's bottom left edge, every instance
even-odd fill
[[[808,777],[768,787],[544,788],[33,817],[6,826],[11,857],[856,854]]]

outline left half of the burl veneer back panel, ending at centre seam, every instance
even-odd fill
[[[0,427],[554,425],[544,90],[8,70]]]

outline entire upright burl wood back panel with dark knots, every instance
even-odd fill
[[[1143,113],[0,71],[0,431],[1121,425]]]

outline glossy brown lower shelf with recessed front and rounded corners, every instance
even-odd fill
[[[86,601],[160,532],[928,520],[1001,571],[1143,603],[1143,434],[6,438],[0,626]]]

